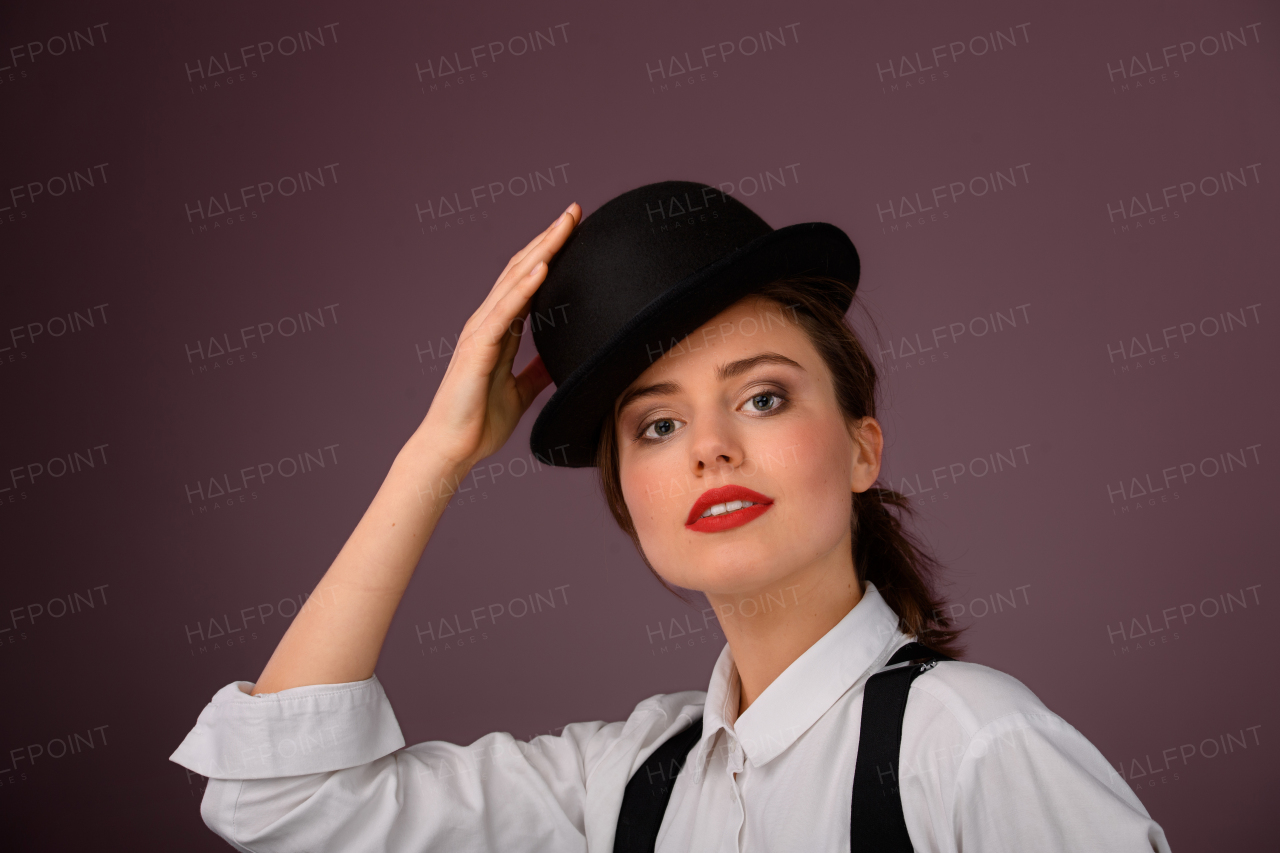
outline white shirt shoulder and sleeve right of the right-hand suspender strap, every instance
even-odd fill
[[[916,849],[1167,853],[1089,740],[1020,681],[941,663],[911,686],[900,780]]]

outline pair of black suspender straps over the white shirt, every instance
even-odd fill
[[[950,660],[920,643],[908,643],[888,658],[886,669],[867,680],[849,817],[854,853],[911,853],[897,777],[902,713],[911,681],[938,661]],[[658,747],[635,772],[622,794],[613,853],[653,853],[676,776],[701,736],[703,721],[695,720]]]

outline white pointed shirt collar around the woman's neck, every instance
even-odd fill
[[[785,752],[851,686],[879,669],[905,642],[897,615],[870,581],[858,605],[810,646],[737,717],[740,683],[733,652],[721,651],[707,688],[703,736],[692,766],[707,766],[723,729],[742,747],[753,767]]]

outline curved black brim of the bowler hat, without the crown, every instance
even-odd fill
[[[530,448],[548,465],[594,466],[600,428],[612,416],[618,394],[672,343],[744,296],[788,275],[846,282],[850,288],[831,291],[846,311],[859,272],[852,241],[829,223],[800,223],[762,234],[664,291],[579,365],[539,412]]]

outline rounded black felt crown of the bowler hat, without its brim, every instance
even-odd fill
[[[530,328],[559,384],[641,309],[773,231],[705,183],[663,181],[617,196],[573,229],[531,300]]]

